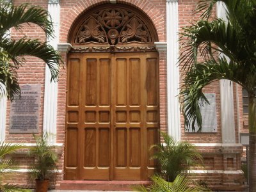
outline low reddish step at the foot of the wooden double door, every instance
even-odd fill
[[[132,186],[149,186],[149,180],[63,180],[56,189],[95,190],[95,191],[132,191]]]

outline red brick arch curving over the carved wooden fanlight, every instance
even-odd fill
[[[152,21],[154,28],[156,29],[157,36],[159,41],[164,41],[164,14],[159,11],[159,9],[154,6],[150,1],[136,1],[135,3],[130,3],[132,0],[127,1],[116,1],[116,3],[127,4],[129,6],[133,6],[138,10],[141,10],[148,18]],[[70,4],[72,4],[72,0]],[[109,1],[102,0],[90,0],[90,1],[79,1],[78,3],[73,3],[72,8],[68,10],[67,8],[61,7],[61,14],[65,15],[60,21],[60,42],[67,42],[68,35],[73,25],[76,23],[76,19],[79,18],[80,15],[83,15],[84,12],[90,10],[94,6],[98,6],[100,4],[109,3]]]

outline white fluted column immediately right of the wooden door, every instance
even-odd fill
[[[166,0],[168,132],[180,140],[178,0]]]

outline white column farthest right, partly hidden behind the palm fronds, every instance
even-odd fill
[[[227,20],[225,4],[222,2],[217,3],[217,16],[223,20]],[[233,93],[232,81],[221,80],[220,99],[222,143],[236,143]]]

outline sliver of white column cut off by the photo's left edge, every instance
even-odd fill
[[[5,128],[6,128],[6,97],[3,96],[0,99],[0,141],[5,140]]]

